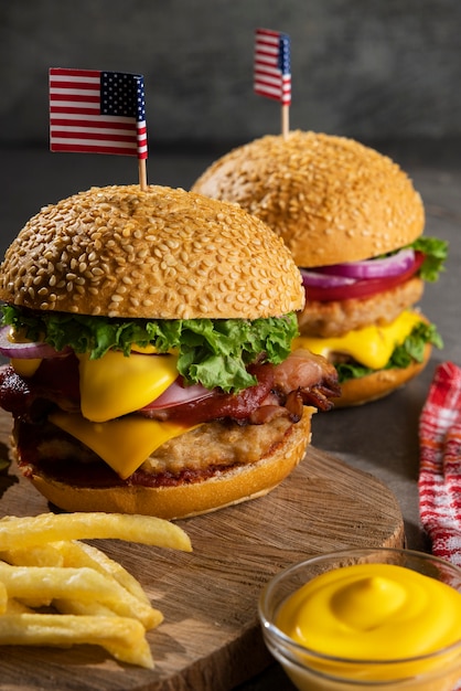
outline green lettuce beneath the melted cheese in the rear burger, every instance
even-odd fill
[[[416,327],[414,327],[411,333],[407,336],[401,346],[397,346],[395,348],[389,361],[383,369],[405,369],[415,361],[422,362],[426,343],[431,343],[436,348],[443,348],[443,341],[435,325],[428,325],[421,321]],[[354,361],[339,362],[337,364],[335,364],[335,368],[337,371],[340,384],[351,379],[360,379],[361,376],[373,374],[373,372],[375,371]]]

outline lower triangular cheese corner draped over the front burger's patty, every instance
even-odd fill
[[[94,423],[78,413],[57,411],[49,419],[93,449],[122,479],[129,477],[159,446],[197,425],[186,427],[129,415],[106,423]]]

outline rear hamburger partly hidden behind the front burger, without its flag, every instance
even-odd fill
[[[339,372],[335,407],[379,398],[416,376],[441,338],[414,307],[447,244],[388,157],[345,137],[291,131],[238,147],[193,190],[239,203],[290,248],[307,291],[301,342]]]

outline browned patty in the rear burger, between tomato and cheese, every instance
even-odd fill
[[[405,309],[418,302],[422,291],[422,280],[414,277],[369,298],[329,302],[308,299],[298,317],[299,329],[303,336],[334,338],[344,336],[353,329],[389,323]]]

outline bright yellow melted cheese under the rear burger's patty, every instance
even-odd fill
[[[336,338],[311,338],[300,336],[292,348],[307,348],[315,354],[329,358],[330,353],[346,353],[372,370],[382,370],[397,346],[401,346],[414,327],[421,322],[416,312],[405,311],[386,326],[355,329]]]

